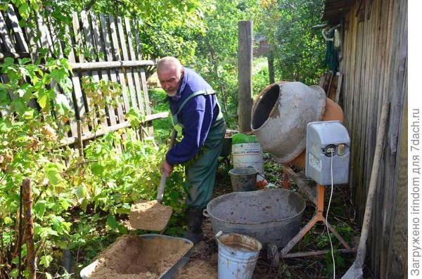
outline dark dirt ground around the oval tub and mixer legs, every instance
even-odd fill
[[[226,173],[229,165],[220,166],[217,172],[217,182],[215,187],[214,196],[224,195],[231,193],[231,183],[229,175]],[[300,172],[300,170],[295,170]],[[267,171],[269,180],[277,185],[283,185],[281,176],[281,166],[274,163],[274,169]],[[290,183],[290,190],[297,191],[294,183]],[[328,193],[327,193],[328,192]],[[303,196],[303,195],[302,195]],[[326,206],[329,199],[329,191],[326,190]],[[305,199],[306,200],[306,199]],[[302,219],[302,226],[312,218],[315,212],[315,207],[312,202],[306,200],[307,207],[305,214]],[[345,238],[346,241],[356,241],[353,236],[358,235],[359,231],[357,225],[354,223],[354,210],[350,203],[350,194],[348,186],[335,186],[333,189],[333,199],[331,201],[330,215],[328,219],[330,223],[338,228],[340,235]],[[325,214],[325,213],[324,213]],[[196,272],[196,277],[177,277],[179,279],[189,278],[217,278],[217,243],[215,241],[214,233],[210,220],[205,218],[204,220],[204,235],[205,241],[199,242],[192,249],[191,254],[191,266],[186,268],[193,268]],[[343,235],[343,233],[347,235]],[[309,252],[318,250],[330,250],[328,237],[326,236],[326,227],[321,223],[314,226],[307,235],[305,235],[300,242],[290,252]],[[343,248],[342,245],[332,236],[333,245],[338,249]],[[354,245],[354,243],[349,243]],[[354,261],[354,254],[335,253],[335,278],[341,278],[341,276],[347,271]],[[255,266],[255,271],[252,275],[252,279],[276,279],[276,278],[333,278],[333,264],[331,252],[316,257],[299,257],[280,259],[278,266],[271,266],[270,262],[266,259],[267,251],[262,249],[260,256]],[[205,267],[204,267],[205,266]],[[199,268],[198,268],[199,267]],[[205,273],[200,273],[204,271]],[[214,271],[214,273],[212,272]],[[180,272],[179,271],[179,275]],[[367,273],[367,271],[366,271]],[[371,278],[370,275],[365,278]]]

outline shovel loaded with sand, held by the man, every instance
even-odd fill
[[[170,137],[169,149],[176,141],[177,131],[173,129]],[[132,228],[139,228],[146,231],[162,231],[172,216],[172,207],[162,205],[167,176],[161,174],[160,186],[158,187],[157,200],[140,200],[130,207],[129,222]]]

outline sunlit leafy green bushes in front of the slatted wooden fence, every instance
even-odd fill
[[[60,249],[87,249],[88,261],[102,247],[90,247],[98,238],[106,243],[103,235],[113,238],[113,233],[128,233],[122,219],[127,219],[130,205],[157,195],[165,148],[136,138],[136,112],[131,118],[134,129],[91,141],[84,149],[85,158],[73,149],[59,148],[60,139],[67,137],[68,119],[74,116],[64,101],[68,96],[56,96],[51,84],[69,93],[68,61],[46,59],[41,66],[27,59],[14,63],[6,58],[0,67],[9,81],[0,85],[0,257],[6,263],[0,275],[18,275],[18,257],[13,251],[18,242],[19,186],[28,177],[33,183],[37,266],[49,277],[57,268],[60,257],[54,255]],[[97,117],[120,93],[118,86],[102,80],[87,79],[82,86],[95,100],[92,111]],[[175,212],[170,234],[184,230],[178,226],[184,211],[183,182],[183,172],[176,168],[163,199]],[[23,245],[24,258],[25,253]]]

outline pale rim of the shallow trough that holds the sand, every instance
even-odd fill
[[[139,238],[145,238],[145,239],[151,239],[151,238],[168,238],[168,239],[177,239],[177,240],[183,240],[186,244],[191,245],[191,247],[193,247],[193,242],[191,242],[191,240],[187,240],[185,238],[174,238],[172,236],[167,236],[167,235],[157,235],[157,234],[146,234],[146,235],[139,235]],[[177,261],[176,264],[174,264],[171,268],[167,269],[167,271],[165,271],[164,273],[162,273],[160,275],[160,277],[158,277],[158,279],[172,279],[174,278],[174,275],[176,275],[176,272],[179,268],[182,268],[183,266],[185,266],[189,259],[191,257],[191,249],[188,250],[188,252],[186,252],[183,257],[181,257],[181,259],[179,259]],[[94,269],[96,268],[98,261],[94,261],[91,264],[89,264],[88,266],[84,267],[82,269],[82,271],[79,273],[79,275],[81,275],[82,279],[89,279],[89,275],[91,275],[91,273],[94,271]]]

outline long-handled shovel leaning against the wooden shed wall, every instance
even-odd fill
[[[347,270],[341,279],[361,279],[363,275],[362,268],[364,266],[366,254],[366,239],[368,238],[369,225],[371,221],[373,209],[373,196],[376,190],[376,181],[378,179],[378,171],[381,164],[381,155],[383,153],[383,143],[385,137],[385,128],[387,127],[388,112],[390,110],[390,103],[384,103],[381,110],[380,126],[376,136],[375,154],[373,155],[371,179],[369,181],[368,196],[366,197],[366,207],[364,213],[364,221],[362,223],[362,232],[357,247],[356,259],[352,266]]]

